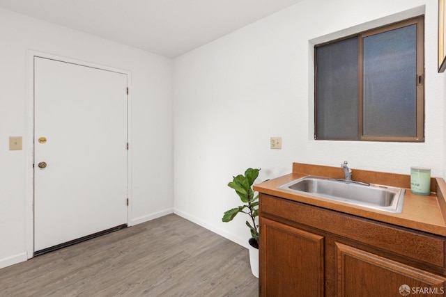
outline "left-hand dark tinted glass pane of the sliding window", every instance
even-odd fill
[[[357,139],[357,37],[316,48],[316,135]]]

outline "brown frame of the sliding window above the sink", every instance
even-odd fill
[[[383,33],[386,31],[392,31],[394,29],[399,29],[404,26],[417,25],[417,85],[416,85],[416,135],[415,136],[364,136],[363,135],[363,39],[367,36],[375,35],[378,33]],[[424,15],[406,19],[400,22],[395,22],[392,24],[387,24],[385,26],[380,26],[375,29],[363,31],[354,35],[348,35],[345,38],[339,38],[337,40],[332,40],[330,42],[324,42],[319,45],[314,46],[314,57],[316,62],[316,48],[321,45],[328,45],[333,42],[338,42],[344,39],[358,38],[358,127],[357,127],[357,139],[349,141],[389,141],[389,142],[424,142]],[[323,141],[342,141],[338,139],[329,138],[318,138],[317,137],[317,77],[316,77],[316,63],[314,63],[314,139]]]

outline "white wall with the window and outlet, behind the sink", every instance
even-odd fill
[[[403,174],[417,165],[446,177],[437,2],[307,0],[174,59],[175,212],[247,246],[247,217],[221,222],[240,203],[226,184],[247,167],[261,168],[258,182],[291,172],[293,161],[347,160],[351,168]],[[424,5],[426,142],[314,141],[312,42]],[[270,150],[270,136],[282,136],[282,150]]]

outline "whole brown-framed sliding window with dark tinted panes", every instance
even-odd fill
[[[424,141],[424,17],[315,46],[315,139]]]

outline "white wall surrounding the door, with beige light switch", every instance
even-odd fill
[[[93,35],[0,9],[0,268],[26,259],[28,51],[77,59],[131,74],[132,224],[173,211],[172,61]],[[31,189],[32,190],[32,189]]]

